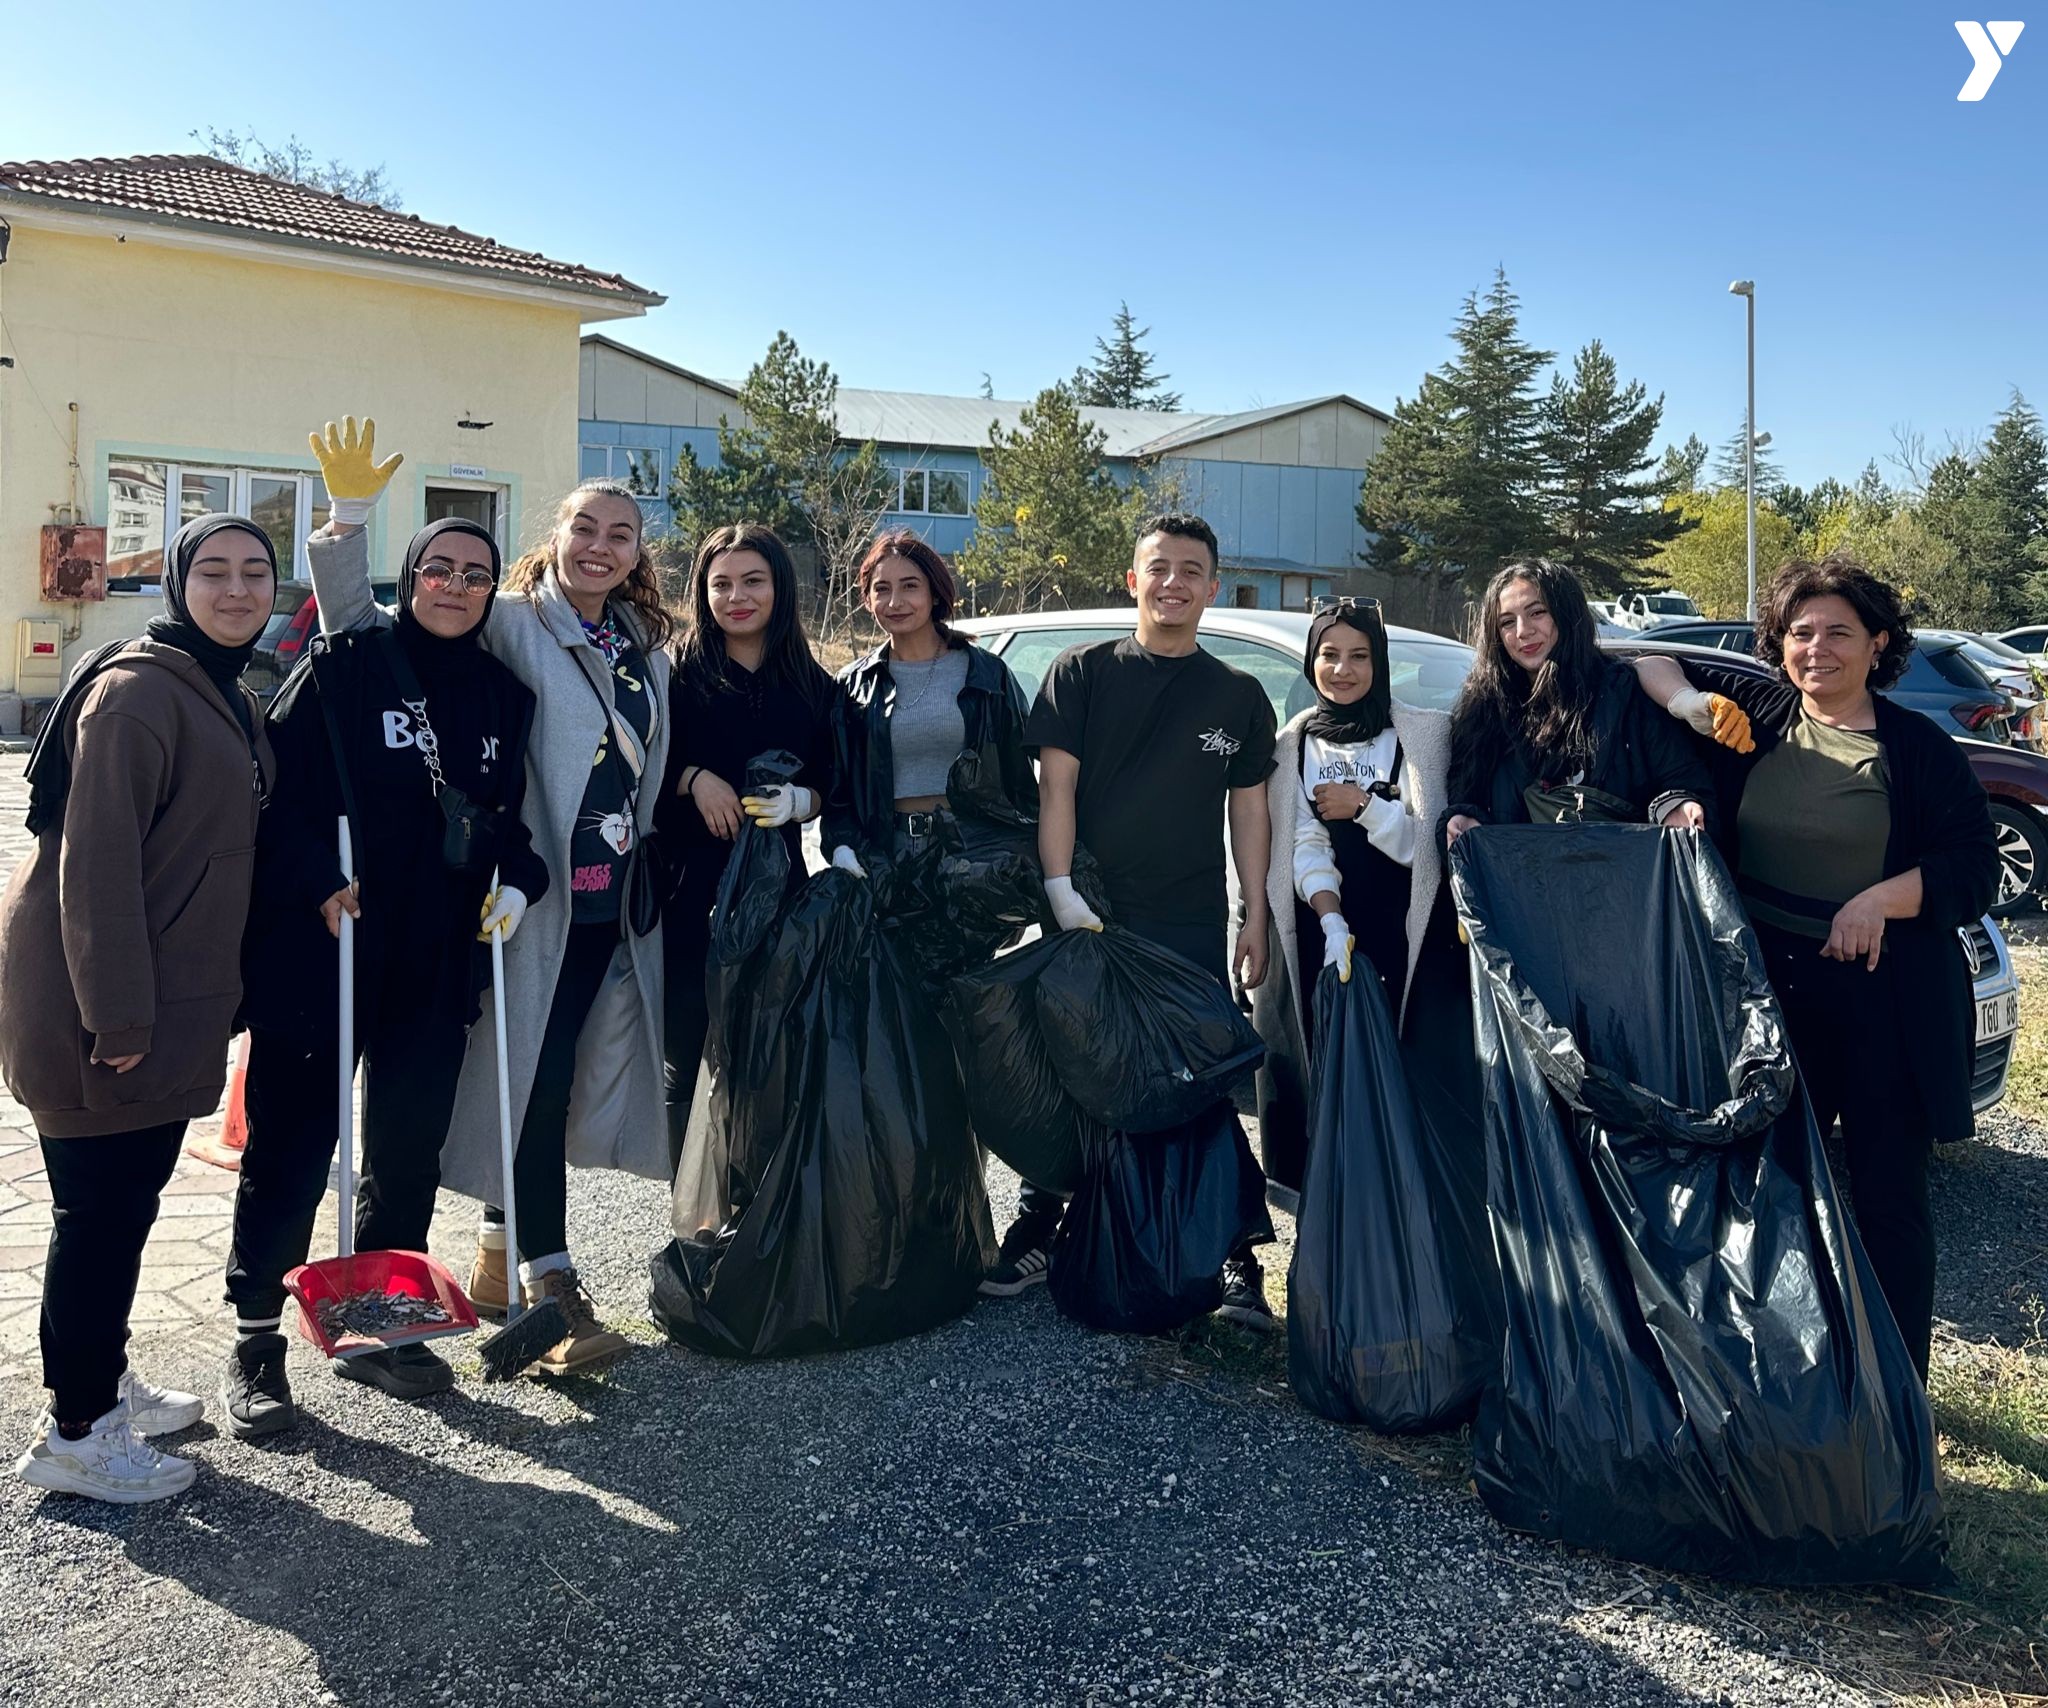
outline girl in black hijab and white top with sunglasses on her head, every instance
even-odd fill
[[[1346,981],[1376,977],[1401,1020],[1442,889],[1442,854],[1423,827],[1444,805],[1450,766],[1450,715],[1393,698],[1378,600],[1319,600],[1300,668],[1315,707],[1280,731],[1268,782],[1268,911],[1288,977],[1251,993],[1270,1051],[1260,1069],[1260,1145],[1284,1204],[1307,1163],[1317,979],[1325,967]],[[1436,936],[1456,956],[1448,915]]]

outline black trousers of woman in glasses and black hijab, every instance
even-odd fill
[[[393,979],[395,985],[395,979]],[[236,1188],[227,1303],[244,1319],[285,1309],[285,1274],[311,1255],[313,1219],[338,1145],[338,1038],[250,1028],[250,1143]],[[467,1028],[385,997],[356,1028],[365,1063],[362,1145],[356,1186],[358,1251],[424,1251],[440,1188]],[[322,1249],[332,1249],[322,1241]]]

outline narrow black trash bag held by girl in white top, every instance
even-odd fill
[[[1501,1364],[1483,1190],[1409,1087],[1380,981],[1315,985],[1309,1167],[1286,1286],[1303,1405],[1380,1434],[1454,1429]]]

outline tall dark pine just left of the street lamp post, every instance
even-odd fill
[[[1649,397],[1638,379],[1618,385],[1597,338],[1579,350],[1571,379],[1550,377],[1536,440],[1550,549],[1587,592],[1626,590],[1645,559],[1686,528],[1681,512],[1659,504],[1671,489],[1651,455],[1661,420],[1663,397]]]

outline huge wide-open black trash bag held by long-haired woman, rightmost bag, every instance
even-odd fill
[[[1931,1577],[1927,1397],[1712,846],[1477,829],[1452,883],[1507,1313],[1473,1442],[1487,1507],[1671,1571]]]

